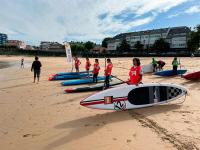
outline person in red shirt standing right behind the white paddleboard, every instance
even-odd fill
[[[129,84],[138,85],[142,81],[142,68],[140,66],[140,59],[133,59],[133,67],[131,67],[129,72]]]

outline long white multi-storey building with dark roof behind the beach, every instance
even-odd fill
[[[186,49],[190,31],[190,28],[183,26],[122,33],[116,35],[108,41],[108,50],[116,50],[123,39],[126,39],[126,41],[130,44],[131,49],[134,49],[135,44],[138,41],[144,45],[144,48],[147,48],[151,47],[155,41],[160,38],[163,38],[166,42],[168,42],[171,49]]]

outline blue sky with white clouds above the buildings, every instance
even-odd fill
[[[200,0],[0,0],[0,33],[29,44],[200,24]]]

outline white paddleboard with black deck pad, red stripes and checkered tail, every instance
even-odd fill
[[[186,95],[187,89],[175,84],[127,85],[98,92],[80,105],[106,110],[127,110],[165,104]]]

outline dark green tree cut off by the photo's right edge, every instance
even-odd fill
[[[195,30],[191,31],[187,46],[189,51],[195,51],[200,47],[200,25],[197,25]]]

